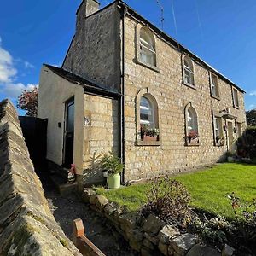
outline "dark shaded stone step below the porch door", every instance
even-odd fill
[[[78,189],[78,183],[67,183],[67,178],[61,177],[57,174],[52,174],[49,176],[53,183],[55,183],[55,187],[58,189],[61,195],[69,195],[74,193]]]

